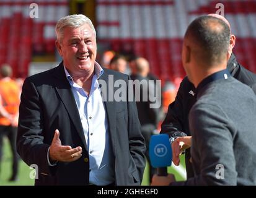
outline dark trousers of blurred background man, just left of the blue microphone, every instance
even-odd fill
[[[149,162],[149,184],[151,184],[152,176],[156,174],[156,168],[151,166],[151,162],[149,159],[149,142],[155,129],[156,127],[154,126],[154,124],[141,124],[141,133],[145,139],[146,148],[147,148],[145,155]]]

